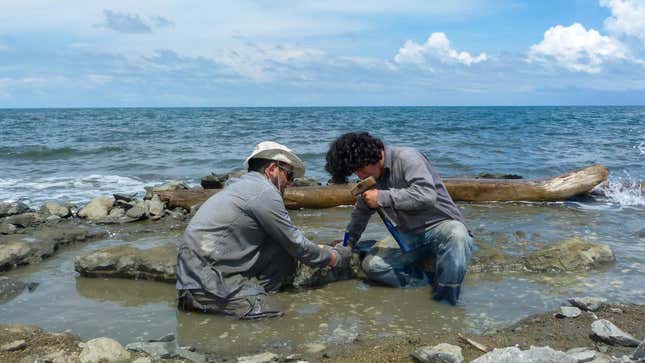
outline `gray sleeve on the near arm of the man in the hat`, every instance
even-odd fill
[[[277,241],[287,252],[312,267],[329,265],[331,252],[311,242],[291,222],[280,194],[275,191],[262,193],[251,203],[251,212],[269,238]]]

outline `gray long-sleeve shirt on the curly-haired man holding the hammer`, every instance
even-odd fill
[[[449,219],[464,223],[428,158],[409,147],[386,147],[384,154],[383,174],[376,181],[378,204],[399,230],[414,232]],[[360,239],[373,213],[359,197],[347,226],[351,240]]]

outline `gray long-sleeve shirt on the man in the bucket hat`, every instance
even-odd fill
[[[209,198],[179,243],[177,289],[205,290],[223,300],[275,291],[295,259],[329,264],[331,252],[296,228],[278,189],[249,172]]]

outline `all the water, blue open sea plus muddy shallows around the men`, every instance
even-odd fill
[[[610,170],[606,197],[551,203],[458,203],[480,247],[519,255],[570,238],[610,246],[615,263],[565,274],[466,276],[459,304],[430,299],[427,287],[390,289],[361,280],[281,293],[285,317],[240,322],[175,308],[173,284],[80,277],[74,258],[108,246],[174,243],[147,234],[77,244],[37,265],[5,273],[39,283],[0,304],[0,322],[71,329],[126,344],[174,333],[181,345],[236,355],[301,351],[356,338],[380,340],[437,331],[482,332],[588,295],[645,304],[645,107],[386,107],[0,110],[0,201],[38,207],[84,203],[169,180],[240,169],[254,145],[294,149],[308,177],[323,182],[337,136],[366,130],[386,145],[419,148],[444,177],[483,172],[547,178],[594,163]],[[316,243],[342,235],[351,208],[291,211]],[[381,238],[372,219],[364,237]],[[305,348],[303,348],[305,347]]]

